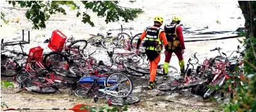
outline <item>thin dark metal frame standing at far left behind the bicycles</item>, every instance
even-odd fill
[[[2,39],[1,44],[3,46],[13,46],[13,45],[18,45],[18,44],[30,44],[30,31],[28,31],[28,41],[24,40],[24,30],[22,30],[22,40],[21,41],[4,42],[4,39]]]

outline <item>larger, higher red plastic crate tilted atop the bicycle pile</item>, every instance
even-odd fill
[[[60,30],[54,30],[52,32],[52,37],[48,44],[48,48],[52,51],[62,51],[66,42],[67,36],[64,35]]]

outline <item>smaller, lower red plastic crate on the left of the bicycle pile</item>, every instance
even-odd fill
[[[36,46],[29,50],[28,56],[30,56],[30,61],[40,62],[43,59],[43,48],[41,46]]]

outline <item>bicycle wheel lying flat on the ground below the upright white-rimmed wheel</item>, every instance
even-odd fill
[[[140,98],[135,96],[127,96],[127,97],[113,97],[108,99],[108,104],[111,104],[113,106],[124,106],[126,104],[136,104],[140,102]]]

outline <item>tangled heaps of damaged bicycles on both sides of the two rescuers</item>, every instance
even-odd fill
[[[21,46],[21,51],[6,49],[9,43],[4,43],[2,39],[1,77],[13,77],[20,89],[28,92],[52,94],[60,92],[62,87],[70,87],[69,95],[77,97],[91,98],[94,101],[106,98],[107,103],[112,105],[138,103],[140,98],[132,95],[133,80],[130,77],[145,77],[150,74],[145,52],[140,50],[142,52],[135,54],[134,51],[137,46],[135,41],[141,34],[134,37],[124,32],[116,37],[109,35],[111,33],[106,37],[98,34],[87,40],[75,40],[74,37],[67,39],[62,32],[55,30],[48,40],[51,52],[44,53],[40,46],[36,46],[28,54],[23,52],[21,43],[17,44]],[[89,54],[91,50],[87,49],[87,44],[112,47],[111,51],[107,51],[107,58],[111,63],[107,65],[103,61],[97,61],[91,56],[95,51]],[[115,49],[125,49],[126,52],[117,52]],[[199,64],[196,53],[189,58],[184,80],[172,77],[179,74],[179,70],[169,66],[168,76],[172,78],[157,84],[155,88],[170,94],[189,89],[192,94],[208,99],[223,92],[220,90],[226,85],[226,80],[243,77],[244,54],[240,52],[239,46],[237,51],[228,56],[221,53],[219,47],[211,51],[218,51],[218,56],[206,58],[203,64]],[[163,65],[160,64],[157,67],[157,77],[163,76],[162,71]],[[232,94],[238,85],[241,83],[233,81],[226,91]]]

